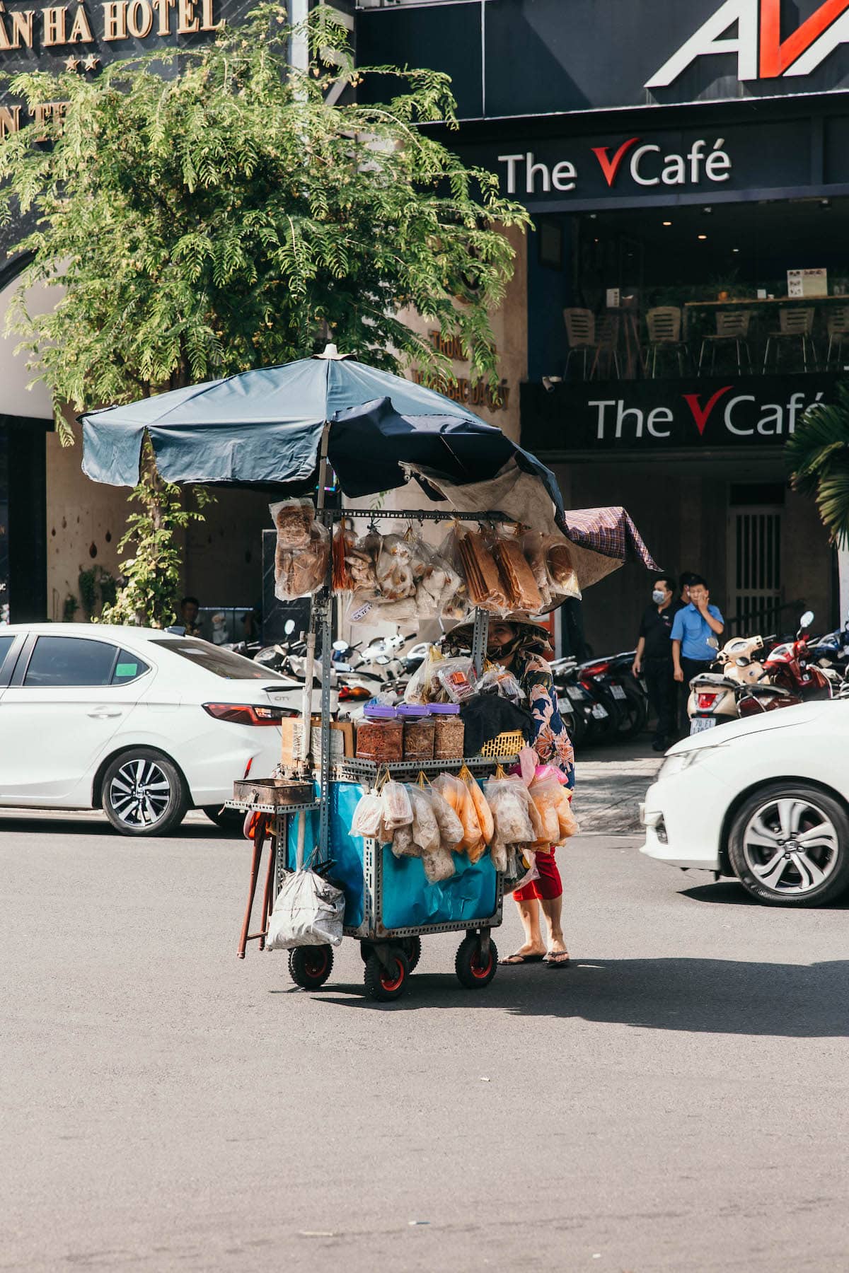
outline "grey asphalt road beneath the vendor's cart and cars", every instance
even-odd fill
[[[561,853],[575,966],[235,943],[247,854],[0,816],[0,1268],[849,1268],[846,910]],[[518,942],[512,906],[498,933]]]

